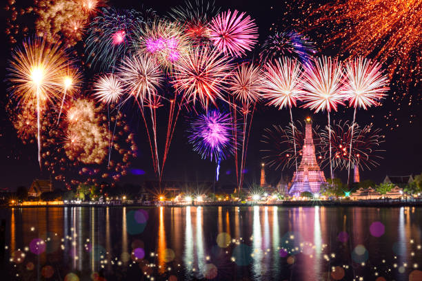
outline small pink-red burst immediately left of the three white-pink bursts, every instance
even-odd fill
[[[243,104],[254,103],[264,92],[263,74],[255,65],[242,63],[233,71],[229,83],[229,90],[233,96]]]

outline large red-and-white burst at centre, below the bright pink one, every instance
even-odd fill
[[[194,47],[181,56],[174,67],[173,83],[187,101],[199,100],[203,107],[223,98],[226,77],[230,72],[228,56],[210,48]]]

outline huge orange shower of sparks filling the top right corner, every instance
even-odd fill
[[[352,56],[372,55],[388,65],[390,78],[399,74],[416,86],[422,73],[421,18],[420,0],[351,0],[316,8],[308,22],[333,30],[328,44],[341,41]]]

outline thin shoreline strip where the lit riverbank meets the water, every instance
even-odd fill
[[[372,200],[372,201],[322,201],[322,200],[310,200],[310,201],[284,201],[274,203],[259,203],[259,202],[205,202],[201,204],[150,204],[144,205],[141,203],[132,204],[63,204],[63,205],[14,205],[14,206],[0,206],[3,209],[20,209],[20,208],[39,208],[39,207],[252,207],[252,206],[277,206],[277,207],[422,207],[422,200],[418,201],[383,201],[383,200]]]

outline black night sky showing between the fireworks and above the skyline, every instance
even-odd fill
[[[215,1],[217,6],[221,6],[222,10],[237,9],[248,12],[257,21],[259,26],[259,39],[262,41],[267,34],[268,29],[272,23],[276,23],[280,19],[280,15],[285,11],[284,4],[282,1]],[[153,8],[159,14],[165,14],[170,10],[172,6],[178,6],[183,3],[181,0],[177,1],[109,1],[110,6],[117,6],[119,8],[135,8],[139,9],[141,3],[144,7]],[[272,8],[271,8],[272,7]],[[4,18],[4,17],[2,17]],[[284,23],[285,24],[285,23]],[[312,34],[308,34],[312,39]],[[3,33],[3,37],[4,33]],[[5,37],[5,42],[8,39]],[[7,59],[10,56],[11,45],[1,45],[1,61],[6,64]],[[326,54],[324,51],[323,54]],[[5,67],[1,67],[1,76],[5,77]],[[3,79],[2,79],[3,80]],[[6,94],[6,83],[1,83],[2,95],[1,95],[1,107],[7,101]],[[409,94],[415,94],[416,90],[411,89]],[[419,113],[421,112],[421,105],[412,105],[411,108],[402,108],[396,110],[396,104],[385,102],[382,107],[376,109],[358,112],[357,121],[361,125],[366,125],[371,122],[374,123],[375,127],[381,127],[385,134],[385,143],[382,145],[382,149],[385,152],[382,154],[383,159],[379,160],[380,166],[372,169],[372,171],[361,171],[361,178],[370,178],[372,180],[381,181],[385,177],[385,174],[390,175],[407,175],[407,174],[419,174],[422,171],[422,123]],[[412,118],[412,124],[409,123],[410,110],[413,114],[416,114],[416,118]],[[394,130],[385,127],[387,121],[385,115],[388,112],[394,112],[394,118],[397,118],[396,127]],[[165,125],[165,112],[161,112],[163,115],[162,120],[159,116],[159,125],[163,129]],[[133,161],[132,167],[134,169],[142,169],[145,171],[143,176],[130,175],[122,179],[123,183],[141,183],[146,178],[153,178],[151,159],[149,154],[149,148],[147,139],[145,137],[145,129],[137,121],[134,121],[136,114],[128,114],[131,116],[128,121],[132,129],[137,132],[137,142],[140,147],[140,156]],[[352,110],[343,109],[334,114],[332,119],[351,120]],[[159,112],[160,115],[160,112]],[[170,155],[168,156],[168,162],[165,165],[165,179],[180,179],[180,180],[212,180],[214,176],[215,164],[209,160],[202,160],[199,154],[192,152],[192,147],[188,143],[186,138],[185,128],[187,125],[186,119],[190,114],[183,114],[179,118],[176,132],[174,134],[173,142],[170,148]],[[308,110],[294,110],[294,118],[303,120],[306,116],[313,116],[314,124],[325,125],[326,114],[312,114]],[[374,117],[372,117],[374,116]],[[138,116],[139,117],[139,116]],[[257,112],[254,114],[252,123],[252,129],[250,132],[250,143],[248,147],[248,158],[246,163],[246,181],[252,182],[253,180],[259,180],[261,152],[262,145],[260,143],[262,139],[263,129],[270,127],[272,124],[287,125],[289,115],[287,110],[276,110],[272,107],[259,106]],[[4,110],[1,110],[0,115],[0,188],[15,189],[19,185],[29,186],[34,178],[48,178],[49,174],[46,171],[40,171],[37,163],[37,150],[36,145],[22,145],[17,134],[12,128],[8,117]],[[287,169],[283,171],[283,174],[292,176],[293,169]],[[226,174],[227,172],[227,174]],[[268,175],[271,178],[281,174],[282,171],[272,171],[268,169]],[[328,169],[325,169],[325,176],[328,176]],[[338,174],[343,180],[346,178],[346,174],[341,172]],[[221,182],[222,183],[235,183],[234,176],[234,160],[229,158],[221,163]]]

